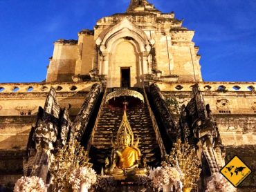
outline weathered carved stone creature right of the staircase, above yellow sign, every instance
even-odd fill
[[[181,108],[179,126],[181,139],[196,146],[197,154],[202,162],[202,175],[209,177],[219,173],[223,166],[224,151],[216,123],[212,119],[210,106],[204,104],[203,95],[196,84],[193,96],[187,106]]]

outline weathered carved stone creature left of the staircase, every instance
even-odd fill
[[[24,173],[27,176],[36,175],[48,182],[48,169],[51,164],[51,150],[57,145],[60,134],[60,117],[63,111],[56,100],[56,92],[51,88],[44,109],[39,107],[35,128],[30,131],[27,157],[24,158]],[[66,119],[68,122],[69,119]]]

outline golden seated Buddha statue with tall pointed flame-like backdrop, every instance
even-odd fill
[[[146,169],[140,166],[140,149],[138,148],[139,139],[134,142],[134,134],[129,125],[126,110],[122,117],[116,136],[116,142],[112,139],[111,164],[106,160],[106,173],[108,175],[139,175],[145,173]]]

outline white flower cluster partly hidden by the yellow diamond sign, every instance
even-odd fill
[[[235,192],[237,189],[226,180],[221,173],[217,173],[210,177],[210,180],[207,182],[206,192]]]

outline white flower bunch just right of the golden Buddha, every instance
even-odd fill
[[[149,178],[152,180],[153,187],[161,191],[163,184],[176,184],[181,180],[179,171],[170,166],[170,164],[162,163],[161,167],[149,171]]]

